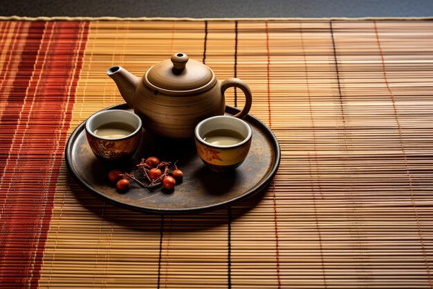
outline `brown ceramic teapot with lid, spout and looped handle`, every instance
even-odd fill
[[[243,119],[250,111],[250,87],[239,78],[219,82],[205,64],[189,59],[185,53],[150,67],[142,78],[116,65],[107,70],[120,94],[140,116],[145,130],[160,137],[194,137],[197,123],[225,112],[224,91],[239,87],[246,103],[235,117]]]

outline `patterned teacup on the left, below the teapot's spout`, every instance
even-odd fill
[[[86,138],[98,159],[125,161],[136,152],[142,133],[141,119],[127,110],[103,110],[86,121]]]

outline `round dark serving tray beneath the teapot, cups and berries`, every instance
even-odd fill
[[[131,110],[126,104],[105,110]],[[234,107],[225,107],[226,115],[237,114]],[[110,166],[98,160],[86,141],[84,123],[78,125],[66,144],[66,165],[85,189],[105,200],[128,209],[150,213],[199,213],[221,209],[262,191],[277,173],[281,158],[279,143],[273,132],[259,119],[248,114],[244,119],[252,128],[252,143],[246,160],[230,173],[214,173],[196,153],[194,140],[163,139],[143,130],[140,147],[122,164],[122,171],[131,172],[142,158],[158,157],[176,161],[184,173],[183,181],[174,190],[162,187],[145,189],[134,182],[125,193],[119,193],[109,182]]]

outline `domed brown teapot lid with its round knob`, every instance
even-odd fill
[[[172,91],[198,89],[207,85],[213,76],[209,67],[181,52],[155,64],[146,74],[152,85]]]

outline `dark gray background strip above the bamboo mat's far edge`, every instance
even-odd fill
[[[430,17],[433,0],[0,0],[1,16]]]

